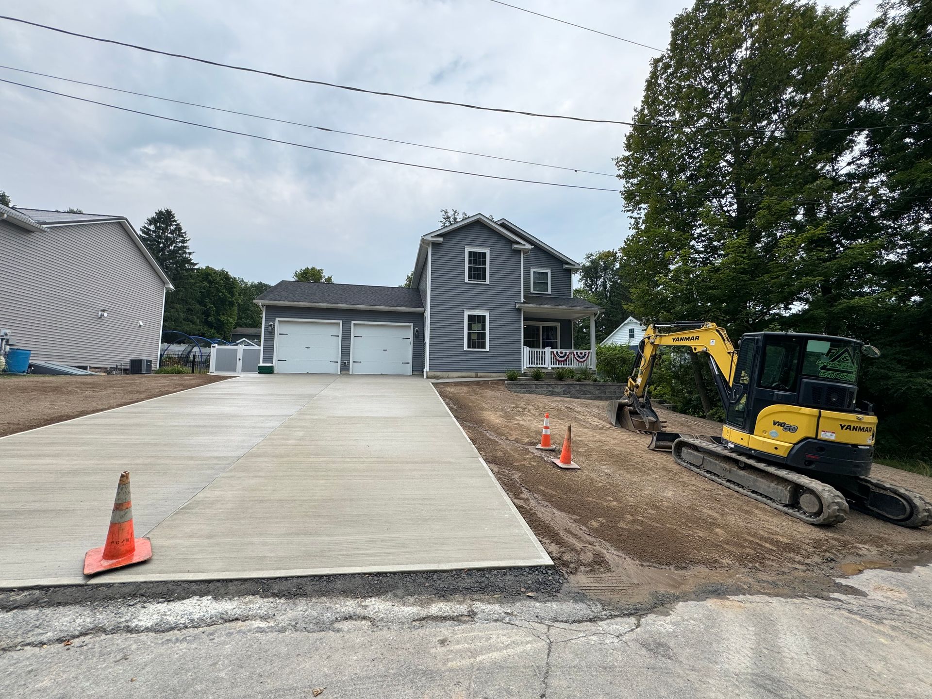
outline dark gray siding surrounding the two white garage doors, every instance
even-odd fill
[[[412,338],[411,373],[424,371],[424,314],[418,311],[401,310],[356,310],[353,308],[312,308],[301,306],[267,306],[266,324],[262,327],[262,361],[272,363],[275,355],[276,319],[300,318],[308,321],[343,321],[340,337],[340,371],[349,373],[349,342],[352,338],[352,322],[410,322],[418,331],[418,339]]]

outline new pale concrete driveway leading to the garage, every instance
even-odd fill
[[[0,587],[87,582],[123,470],[153,557],[91,583],[551,563],[429,382],[252,375],[0,439]]]

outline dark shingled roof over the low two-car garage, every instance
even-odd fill
[[[255,303],[260,306],[424,310],[417,289],[403,286],[331,284],[323,281],[280,281],[256,296]]]

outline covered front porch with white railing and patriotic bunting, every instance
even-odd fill
[[[521,371],[557,368],[596,370],[596,305],[582,298],[528,295],[521,310]],[[589,347],[575,347],[574,323],[589,325]]]

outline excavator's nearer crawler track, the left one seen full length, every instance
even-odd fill
[[[694,473],[807,524],[831,527],[848,515],[848,502],[834,487],[714,442],[680,437],[673,444],[673,458]]]

